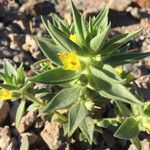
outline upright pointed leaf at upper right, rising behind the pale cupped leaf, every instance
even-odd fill
[[[97,27],[98,29],[104,28],[108,25],[108,12],[109,12],[109,7],[106,5],[104,9],[95,18],[95,21],[93,23],[94,29]]]

